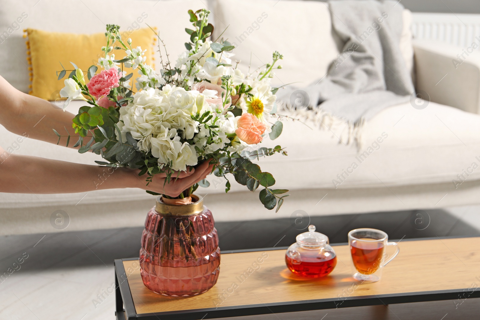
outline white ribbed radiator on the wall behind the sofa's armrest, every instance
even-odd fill
[[[480,14],[413,12],[412,33],[419,40],[436,40],[459,47],[480,43]]]

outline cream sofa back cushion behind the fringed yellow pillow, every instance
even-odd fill
[[[26,28],[94,34],[105,32],[105,24],[119,24],[121,30],[129,31],[148,24],[158,28],[170,60],[175,61],[189,40],[185,28],[192,24],[187,11],[206,5],[208,2],[204,0],[3,0],[0,6],[0,74],[18,90],[28,92],[29,71],[22,37],[22,30]],[[158,58],[156,69],[160,69]]]

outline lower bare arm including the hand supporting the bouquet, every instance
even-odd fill
[[[180,178],[155,176],[146,186],[135,170],[81,165],[34,156],[9,154],[0,148],[0,192],[73,193],[101,189],[140,188],[177,197],[181,191],[204,179],[212,170],[208,161],[180,173]]]

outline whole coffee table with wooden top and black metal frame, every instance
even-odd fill
[[[370,284],[351,277],[348,245],[333,246],[336,268],[319,279],[290,273],[287,248],[222,252],[216,285],[192,297],[153,293],[142,282],[138,259],[115,260],[117,319],[214,319],[480,297],[480,237],[404,239],[382,279]]]

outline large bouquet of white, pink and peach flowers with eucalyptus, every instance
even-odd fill
[[[282,132],[284,116],[277,114],[275,103],[278,88],[270,86],[270,79],[274,70],[281,69],[276,63],[283,56],[274,52],[272,62],[245,75],[232,66],[231,43],[223,38],[209,40],[214,29],[208,23],[210,12],[188,13],[193,29],[186,29],[190,41],[175,65],[168,53],[162,55],[165,45],[156,33],[160,74],[145,63],[146,50],[134,47],[130,38],[122,39],[120,27],[114,24],[107,25],[98,66],[84,72],[72,63],[74,70],[60,91],[67,98],[64,106],[72,99],[88,103],[73,119],[80,136],[74,146],[80,147],[80,153],[100,154],[106,161],[96,161],[99,165],[140,169],[147,183],[158,173],[165,173],[168,183],[179,171],[210,161],[215,164],[213,174],[227,179],[226,192],[230,173],[251,191],[263,187],[260,201],[267,209],[277,206],[278,211],[288,190],[272,189],[274,177],[252,160],[287,154],[279,145],[258,146],[267,136],[273,140]],[[114,49],[123,49],[125,56],[115,59]],[[98,67],[103,70],[97,72]],[[133,73],[126,74],[124,67],[138,70],[136,90],[130,85]],[[59,80],[66,71],[58,72]],[[200,181],[178,198],[190,196],[199,185],[208,187],[209,182]]]

